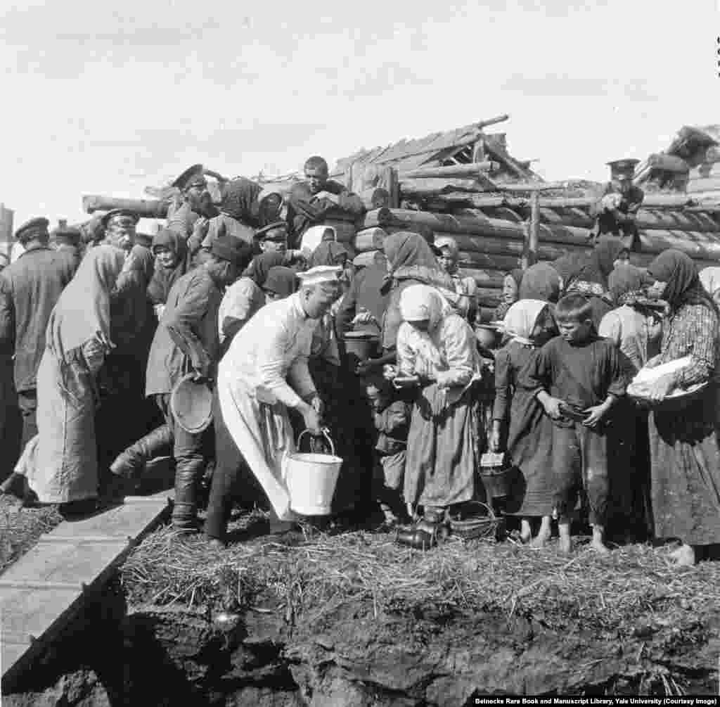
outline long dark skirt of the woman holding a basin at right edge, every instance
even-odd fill
[[[649,416],[652,512],[658,538],[688,545],[720,543],[720,468],[711,386],[681,411]]]

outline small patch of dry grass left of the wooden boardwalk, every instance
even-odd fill
[[[16,498],[0,495],[0,574],[62,520],[57,506],[22,508]]]

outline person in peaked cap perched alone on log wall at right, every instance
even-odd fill
[[[595,227],[590,236],[619,236],[629,250],[640,250],[640,235],[635,223],[645,193],[632,183],[637,159],[618,159],[608,162],[611,181],[595,205]]]

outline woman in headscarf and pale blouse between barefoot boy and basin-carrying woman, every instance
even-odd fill
[[[615,309],[603,316],[598,328],[600,337],[618,347],[628,381],[660,351],[662,316],[644,295],[644,285],[641,270],[618,264],[608,277]],[[613,410],[608,458],[608,530],[630,541],[647,537],[652,533],[647,412],[626,398],[619,399]]]

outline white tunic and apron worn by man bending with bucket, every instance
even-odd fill
[[[225,426],[281,519],[291,515],[284,462],[295,448],[287,407],[315,391],[307,357],[317,324],[299,293],[267,304],[235,335],[217,375]]]

